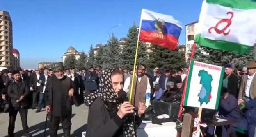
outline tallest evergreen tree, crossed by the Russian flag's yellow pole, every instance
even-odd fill
[[[138,39],[138,27],[133,24],[130,27],[127,34],[126,44],[123,46],[121,55],[120,55],[120,66],[126,67],[128,69],[133,69],[134,59],[135,59],[135,50]],[[146,64],[148,56],[146,54],[146,46],[142,42],[139,42],[137,62]]]

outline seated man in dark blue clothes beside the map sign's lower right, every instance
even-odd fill
[[[246,129],[247,120],[242,115],[242,111],[239,109],[237,99],[235,96],[228,93],[226,88],[222,89],[222,96],[219,102],[219,116],[225,117],[228,120],[235,120],[239,124],[233,126],[222,126],[221,130],[216,130],[216,133],[221,134],[220,137],[228,137],[228,130],[231,137],[236,137],[235,127]],[[214,127],[208,127],[208,133],[213,135]]]

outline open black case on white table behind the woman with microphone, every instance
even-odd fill
[[[167,114],[170,116],[170,118],[178,117],[178,110],[180,107],[178,104],[162,101],[153,101],[152,106],[156,116]]]

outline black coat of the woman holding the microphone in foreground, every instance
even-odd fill
[[[86,137],[123,137],[124,122],[117,115],[117,110],[111,111],[107,109],[103,101],[98,97],[89,107]],[[136,115],[135,130],[137,130],[141,122],[140,117]]]

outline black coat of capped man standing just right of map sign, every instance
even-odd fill
[[[238,98],[238,81],[238,76],[234,73],[229,76],[228,92],[236,98]]]

